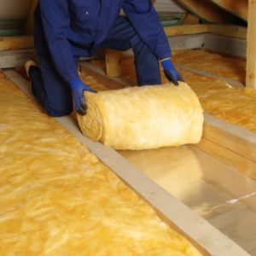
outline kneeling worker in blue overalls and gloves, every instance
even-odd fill
[[[150,0],[39,0],[34,24],[39,63],[26,62],[26,72],[50,116],[67,115],[73,106],[86,113],[83,92],[93,90],[79,79],[77,64],[98,48],[133,49],[139,85],[161,83],[159,61],[167,79],[183,80]]]

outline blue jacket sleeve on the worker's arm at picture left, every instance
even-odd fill
[[[71,46],[67,41],[69,12],[67,0],[40,0],[44,35],[56,70],[67,82],[79,77]]]

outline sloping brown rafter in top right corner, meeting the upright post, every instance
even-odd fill
[[[212,2],[242,20],[247,20],[248,0],[212,0]]]

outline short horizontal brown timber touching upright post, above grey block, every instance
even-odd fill
[[[208,31],[212,34],[226,36],[230,38],[247,38],[247,27],[245,26],[209,24]]]

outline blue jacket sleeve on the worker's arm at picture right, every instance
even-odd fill
[[[160,59],[171,57],[171,49],[158,15],[150,0],[125,0],[125,15],[143,42]]]

